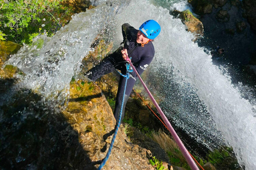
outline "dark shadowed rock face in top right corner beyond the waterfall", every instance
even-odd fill
[[[232,62],[237,65],[247,65],[253,60],[252,54],[256,51],[255,38],[255,1],[246,0],[191,0],[193,12],[204,26],[204,37],[198,41],[198,45],[209,50],[215,50],[216,46],[225,49],[223,57],[213,56],[216,63],[227,64]],[[211,4],[211,13],[205,13],[206,5]],[[199,11],[198,6],[204,6]],[[250,19],[249,19],[250,18]],[[253,31],[254,30],[254,31]],[[228,62],[227,62],[228,61]]]

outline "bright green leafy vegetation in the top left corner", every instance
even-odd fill
[[[83,10],[65,0],[0,0],[0,40],[31,44],[39,33],[52,36]]]

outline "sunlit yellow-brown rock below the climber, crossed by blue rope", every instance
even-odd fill
[[[93,169],[93,163],[103,159],[108,151],[116,121],[101,90],[93,82],[82,84],[80,80],[71,85],[68,108],[63,113],[77,131],[79,143],[90,157],[85,169]],[[81,92],[77,93],[77,89]],[[147,149],[132,144],[121,128],[104,168],[154,169],[147,161],[146,153]]]

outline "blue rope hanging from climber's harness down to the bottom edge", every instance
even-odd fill
[[[118,123],[117,123],[116,129],[115,129],[114,136],[112,138],[112,141],[111,141],[109,149],[108,149],[108,153],[107,153],[106,157],[102,160],[102,163],[97,168],[97,170],[100,170],[106,164],[106,162],[107,162],[107,160],[108,160],[108,158],[110,156],[111,150],[112,150],[112,148],[114,146],[114,142],[115,142],[115,139],[116,139],[117,131],[118,131],[118,129],[120,127],[120,124],[121,124],[121,118],[122,118],[122,111],[123,111],[123,105],[124,105],[124,96],[125,96],[125,91],[126,91],[127,80],[130,77],[130,72],[132,72],[132,70],[130,69],[130,64],[126,64],[126,70],[127,70],[126,75],[123,75],[122,73],[117,71],[120,75],[122,75],[125,78],[125,86],[124,86],[124,94],[123,94],[123,100],[122,100],[122,105],[121,105],[121,111],[120,111],[120,114],[119,114],[119,117],[118,117]]]

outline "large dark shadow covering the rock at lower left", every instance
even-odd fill
[[[78,133],[41,98],[22,89],[0,107],[1,169],[96,169]]]

